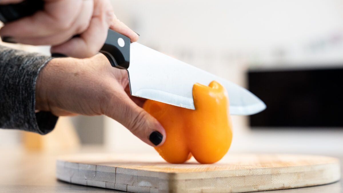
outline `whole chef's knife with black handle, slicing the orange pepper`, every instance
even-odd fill
[[[19,4],[0,6],[0,20],[4,23],[32,15],[44,6],[41,0],[26,0]],[[230,114],[251,115],[263,111],[265,104],[248,90],[209,72],[166,56],[113,30],[100,50],[111,65],[126,69],[133,96],[151,99],[187,109],[195,109],[192,87],[194,83],[208,85],[215,80],[228,91]]]

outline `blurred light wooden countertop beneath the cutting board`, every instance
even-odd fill
[[[98,152],[94,149],[82,152]],[[57,154],[0,149],[0,192],[121,192],[59,181],[55,178]],[[334,156],[341,160],[343,156]],[[342,176],[343,176],[343,168]],[[343,193],[342,180],[327,185],[274,190],[268,193]]]

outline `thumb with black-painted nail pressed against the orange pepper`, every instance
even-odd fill
[[[153,147],[160,146],[166,139],[166,132],[162,125],[144,109],[135,104],[129,96],[124,93],[120,104],[118,100],[112,101],[117,104],[105,114],[128,128],[131,133],[140,138],[146,144]]]

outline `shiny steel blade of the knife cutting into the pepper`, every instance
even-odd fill
[[[130,49],[128,72],[130,90],[134,96],[194,110],[193,84],[198,82],[208,85],[215,80],[228,92],[230,114],[251,115],[266,107],[248,90],[209,72],[139,43],[131,43]]]

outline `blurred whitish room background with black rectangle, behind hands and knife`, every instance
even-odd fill
[[[111,2],[139,43],[246,87],[267,104],[260,114],[232,116],[229,152],[343,154],[342,0]],[[2,44],[49,54],[48,46]],[[37,141],[50,150],[66,144],[157,154],[105,116],[60,118],[44,139],[0,129],[0,147],[42,149]]]

